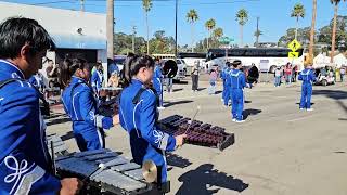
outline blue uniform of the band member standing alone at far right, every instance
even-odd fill
[[[298,77],[303,80],[300,108],[311,108],[312,83],[316,81],[313,70],[305,68]]]

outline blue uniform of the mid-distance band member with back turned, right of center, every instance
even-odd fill
[[[246,82],[246,76],[240,69],[230,72],[231,96],[232,96],[232,118],[243,120],[242,112],[244,107],[244,88],[252,88],[250,83]]]

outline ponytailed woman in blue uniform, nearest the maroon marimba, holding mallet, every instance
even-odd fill
[[[129,66],[126,75],[131,81],[120,94],[120,125],[130,135],[133,160],[139,165],[152,160],[157,166],[160,188],[167,182],[165,152],[181,146],[187,135],[172,136],[157,126],[158,100],[155,92],[145,87],[153,78],[154,61],[150,56],[133,56],[127,58],[126,66]]]

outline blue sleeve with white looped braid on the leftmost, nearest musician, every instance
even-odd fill
[[[28,127],[38,126],[34,119],[39,116],[38,98],[34,91],[13,93],[11,100],[0,101],[0,194],[56,194],[60,180],[38,166],[24,150],[28,144],[40,144],[27,140]]]

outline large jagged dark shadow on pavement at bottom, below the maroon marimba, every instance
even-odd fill
[[[183,173],[178,180],[183,183],[177,195],[209,195],[217,193],[220,188],[242,192],[248,187],[248,184],[242,180],[214,169],[211,164],[201,165],[195,170]]]

